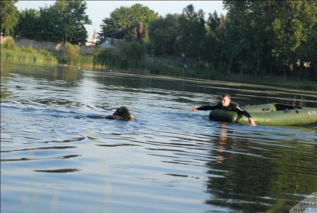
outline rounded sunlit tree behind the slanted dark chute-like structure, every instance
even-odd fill
[[[103,19],[103,23],[100,25],[102,31],[98,33],[98,38],[99,40],[104,40],[106,37],[111,37],[111,33],[123,30],[139,22],[142,22],[146,29],[150,20],[157,17],[158,13],[139,3],[133,4],[131,7],[121,6],[113,10],[109,18]],[[117,34],[115,38],[128,40],[134,33],[134,29],[131,29],[127,33]],[[144,42],[147,42],[147,37],[146,30],[143,30]]]

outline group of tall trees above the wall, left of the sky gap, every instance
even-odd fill
[[[39,10],[22,11],[17,11],[16,2],[1,0],[1,34],[72,44],[87,41],[84,25],[92,24],[92,21],[86,14],[87,3],[84,0],[56,0],[53,5],[40,7]]]

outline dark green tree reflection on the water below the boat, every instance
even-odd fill
[[[217,159],[207,164],[208,173],[221,171],[224,177],[209,177],[212,196],[206,203],[242,212],[286,212],[305,186],[316,190],[316,131],[257,127],[242,135],[237,127],[245,128],[219,125],[219,139],[211,141],[218,144],[211,150]]]

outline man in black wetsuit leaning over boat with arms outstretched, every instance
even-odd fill
[[[221,103],[215,105],[205,105],[198,108],[190,108],[189,111],[196,111],[196,110],[213,110],[213,109],[224,109],[230,111],[236,111],[243,115],[245,115],[249,119],[249,123],[251,126],[256,126],[256,122],[254,122],[253,118],[251,117],[250,113],[242,109],[239,104],[231,101],[229,94],[222,95]]]

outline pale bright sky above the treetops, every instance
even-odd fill
[[[40,9],[40,7],[50,6],[55,0],[19,0],[15,5],[18,10]],[[120,6],[130,7],[140,3],[149,7],[153,11],[165,16],[168,13],[181,14],[183,8],[193,4],[195,11],[202,9],[207,19],[209,13],[216,11],[218,15],[227,14],[227,10],[222,8],[222,0],[86,0],[86,14],[92,20],[92,25],[85,25],[88,32],[88,41],[92,41],[94,30],[100,32],[100,25],[104,18],[109,18],[110,13]],[[96,35],[97,36],[97,35]]]

